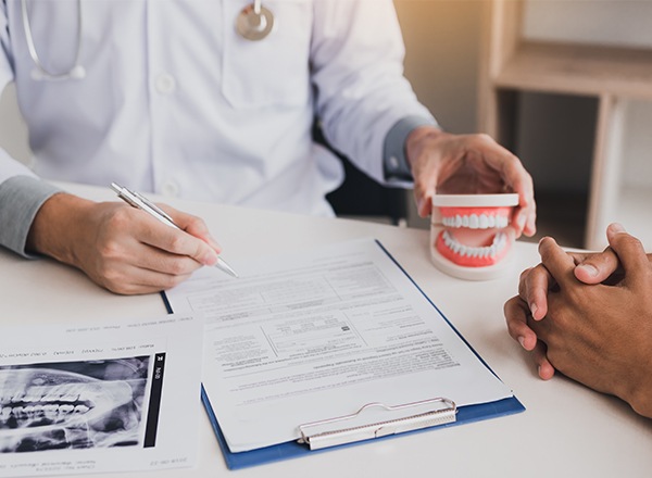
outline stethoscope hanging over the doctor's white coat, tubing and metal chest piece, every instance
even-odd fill
[[[83,79],[86,77],[86,68],[79,64],[82,53],[82,30],[84,28],[82,15],[82,0],[77,0],[77,49],[75,51],[75,61],[67,72],[55,73],[48,70],[40,61],[36,46],[34,45],[34,35],[32,35],[32,25],[29,24],[29,13],[27,12],[27,0],[21,0],[21,13],[23,15],[23,29],[27,40],[29,56],[36,66],[32,72],[32,77],[37,80],[58,80],[58,79]],[[263,7],[262,0],[254,0],[253,3],[244,7],[236,17],[236,30],[238,34],[251,41],[259,41],[267,37],[274,28],[274,14]]]

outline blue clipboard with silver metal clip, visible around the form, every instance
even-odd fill
[[[454,331],[454,334],[464,342],[464,344],[473,352],[478,361],[487,367],[487,369],[497,378],[498,375],[487,365],[482,357],[473,349],[460,331],[450,323],[450,320],[441,313],[428,295],[421,289],[414,279],[405,272],[405,269],[397,262],[389,251],[378,241],[375,241],[378,247],[387,254],[393,264],[408,277],[418,292],[427,300],[427,302],[440,314],[446,324]],[[172,306],[165,292],[161,292],[161,297],[170,313]],[[500,379],[500,378],[499,378]],[[217,438],[217,442],[224,455],[226,466],[229,469],[241,469],[252,466],[280,462],[289,458],[301,457],[314,453],[337,450],[342,446],[352,446],[363,444],[369,440],[386,440],[397,436],[406,433],[418,433],[429,431],[434,428],[447,428],[456,425],[480,422],[489,418],[512,415],[525,411],[525,406],[512,395],[506,399],[497,400],[489,403],[473,404],[456,406],[450,398],[434,398],[421,402],[406,404],[381,404],[368,403],[356,404],[358,408],[351,411],[350,415],[339,417],[324,417],[318,422],[309,424],[297,424],[300,438],[298,440],[288,441],[271,446],[259,448],[251,451],[234,453],[229,450],[227,441],[222,432],[220,423],[217,422],[213,405],[205,391],[201,387],[201,401],[204,405],[206,414],[213,431]],[[397,411],[411,411],[413,407],[421,405],[434,405],[429,412],[406,413],[398,418],[392,414]],[[388,412],[387,418],[375,419],[371,422],[362,420],[361,424],[349,424],[350,420],[355,420],[363,416],[364,412],[369,408],[379,408]],[[333,428],[328,428],[333,426]],[[326,427],[324,429],[323,427]],[[316,430],[316,431],[315,431]]]

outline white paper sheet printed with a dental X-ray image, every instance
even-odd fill
[[[195,466],[203,320],[2,327],[0,477]]]

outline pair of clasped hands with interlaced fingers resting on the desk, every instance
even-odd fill
[[[559,370],[652,418],[652,254],[618,224],[606,237],[599,253],[542,239],[541,264],[505,303],[507,329],[542,379]]]

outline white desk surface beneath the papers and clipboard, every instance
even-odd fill
[[[67,189],[91,199],[116,200],[108,188],[67,185]],[[540,380],[530,357],[509,337],[502,307],[516,292],[521,271],[538,262],[535,244],[516,244],[514,266],[507,277],[469,282],[444,276],[431,265],[425,230],[167,202],[203,217],[223,246],[225,259],[350,238],[379,239],[527,410],[237,471],[226,468],[209,419],[202,413],[198,466],[156,471],[156,477],[652,476],[651,420],[639,417],[617,399],[563,377]],[[159,294],[115,295],[71,267],[50,260],[25,261],[0,250],[3,324],[33,324],[37,334],[38,325],[49,320],[92,322],[162,313],[165,307]]]

